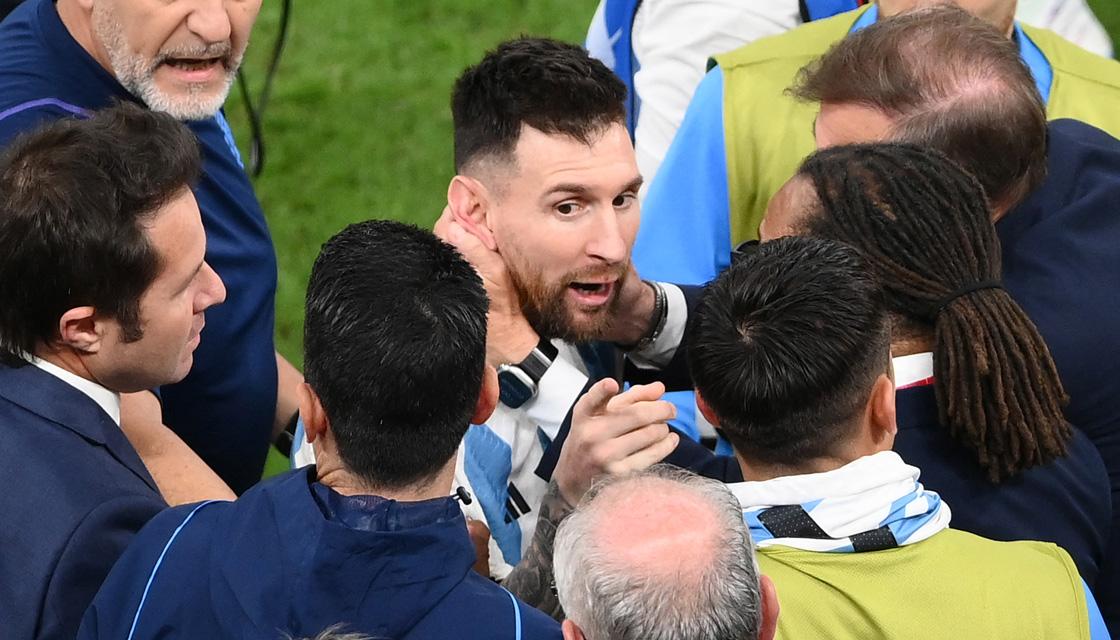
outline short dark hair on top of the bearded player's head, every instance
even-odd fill
[[[590,143],[625,123],[626,85],[579,46],[545,38],[503,43],[455,83],[455,168],[512,160],[522,126]]]

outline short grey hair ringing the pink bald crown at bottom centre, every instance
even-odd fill
[[[716,521],[710,553],[694,557],[689,579],[665,579],[613,560],[597,539],[598,522],[627,491],[647,480],[672,482],[707,505]],[[606,507],[601,502],[607,502]],[[675,516],[666,512],[666,519]],[[682,555],[694,549],[679,549]],[[710,556],[710,557],[708,557]],[[738,500],[721,483],[656,465],[594,485],[561,525],[553,556],[557,592],[569,620],[588,640],[756,640],[762,623],[758,566]]]

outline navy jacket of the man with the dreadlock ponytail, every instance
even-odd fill
[[[895,397],[895,452],[922,470],[922,484],[949,504],[950,526],[992,540],[1043,540],[1070,553],[1093,586],[1112,522],[1109,475],[1084,434],[1074,430],[1065,457],[1000,484],[988,481],[976,454],[941,425],[933,387]]]

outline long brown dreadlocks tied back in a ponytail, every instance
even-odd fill
[[[825,149],[799,175],[820,203],[808,231],[865,254],[898,337],[933,335],[941,424],[988,477],[1064,455],[1067,398],[1038,330],[999,286],[999,240],[976,178],[911,145]]]

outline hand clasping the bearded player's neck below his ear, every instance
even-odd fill
[[[486,361],[497,367],[524,360],[540,342],[540,336],[521,313],[521,300],[510,282],[502,254],[487,249],[475,234],[459,224],[449,206],[444,207],[433,231],[440,240],[459,250],[486,286],[489,297]]]

